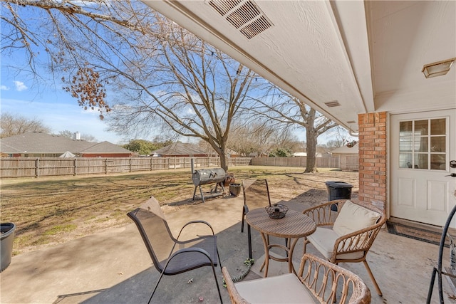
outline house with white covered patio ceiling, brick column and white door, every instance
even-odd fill
[[[445,224],[456,1],[145,3],[358,136],[359,199],[383,203],[388,218]],[[449,71],[430,75],[440,67]]]

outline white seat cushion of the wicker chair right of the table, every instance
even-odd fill
[[[336,231],[333,231],[333,229],[316,227],[316,231],[310,236],[307,236],[307,239],[315,246],[316,250],[323,254],[323,256],[331,258],[331,256],[333,256],[334,243],[339,237],[340,236],[336,234]],[[343,253],[337,256],[337,258],[341,260],[352,260],[362,257],[363,252]]]

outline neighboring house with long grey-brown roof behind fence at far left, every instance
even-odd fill
[[[86,142],[68,137],[28,132],[0,139],[2,157],[131,157],[133,152],[110,142]]]

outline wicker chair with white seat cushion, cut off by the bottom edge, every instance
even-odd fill
[[[361,278],[323,258],[305,254],[299,273],[233,283],[222,268],[229,297],[244,303],[371,303],[371,292]]]

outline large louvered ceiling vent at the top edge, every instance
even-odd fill
[[[208,3],[247,39],[273,26],[254,1],[209,0]]]

